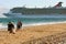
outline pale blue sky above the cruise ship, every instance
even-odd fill
[[[63,7],[66,7],[66,0],[0,0],[0,7],[14,8],[14,7],[26,7],[26,8],[47,8],[54,7],[59,1],[63,2]]]

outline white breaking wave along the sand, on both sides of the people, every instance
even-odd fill
[[[59,21],[59,22],[40,22],[40,23],[29,23],[29,24],[23,24],[22,28],[25,26],[35,26],[35,25],[48,25],[48,24],[58,24],[58,23],[66,23],[66,21]],[[16,28],[16,24],[14,24],[14,26]],[[0,23],[0,29],[8,29],[8,25]]]

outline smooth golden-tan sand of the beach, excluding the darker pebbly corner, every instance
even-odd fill
[[[47,38],[46,36],[58,36],[59,33],[66,35],[66,23],[26,26],[16,31],[15,34],[9,33],[8,31],[0,31],[0,44],[30,44],[30,42],[36,41],[37,38],[45,40]]]

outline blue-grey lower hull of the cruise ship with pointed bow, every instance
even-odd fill
[[[66,14],[10,14],[4,13],[8,18],[66,18]]]

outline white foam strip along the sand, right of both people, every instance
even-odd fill
[[[58,24],[58,23],[66,23],[66,21],[62,21],[62,22],[41,22],[41,23],[30,23],[30,24],[23,24],[23,26],[47,25],[47,24]]]

